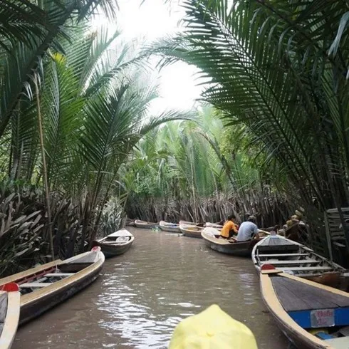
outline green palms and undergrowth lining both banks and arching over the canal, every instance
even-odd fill
[[[1,4],[1,274],[83,251],[125,214],[271,226],[301,205],[325,246],[323,212],[349,201],[346,4],[182,6],[186,30],[139,50],[89,27],[116,1]],[[199,68],[197,110],[150,113],[150,53]]]

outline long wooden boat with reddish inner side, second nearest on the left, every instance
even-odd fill
[[[61,261],[0,279],[0,286],[15,282],[21,291],[19,324],[26,323],[48,309],[65,301],[95,281],[102,269],[105,256],[99,246],[91,251]]]

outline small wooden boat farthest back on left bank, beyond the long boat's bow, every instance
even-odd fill
[[[135,241],[135,236],[133,236],[130,231],[126,229],[121,229],[115,231],[115,233],[93,241],[93,246],[100,246],[105,258],[119,256],[120,254],[125,254]]]

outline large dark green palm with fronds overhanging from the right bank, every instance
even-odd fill
[[[204,99],[227,123],[245,125],[313,222],[325,209],[348,206],[345,1],[185,0],[183,6],[186,31],[157,43],[158,51],[201,69]]]

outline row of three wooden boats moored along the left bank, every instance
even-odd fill
[[[124,254],[135,240],[130,231],[116,231],[93,241],[91,251],[51,261],[0,279],[0,349],[9,349],[18,325],[71,298],[100,274],[106,257]]]

